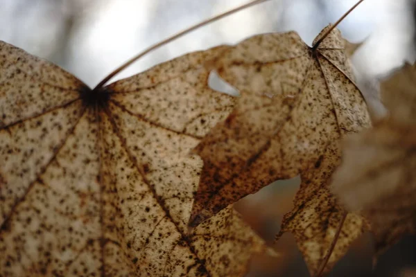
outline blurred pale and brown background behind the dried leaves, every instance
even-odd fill
[[[307,44],[356,0],[270,0],[205,26],[150,53],[117,75],[137,74],[159,62],[259,33],[296,30]],[[243,0],[0,0],[0,40],[44,57],[95,86],[117,66],[151,44],[239,6]],[[339,28],[350,42],[364,42],[352,57],[365,90],[405,60],[415,60],[415,1],[366,0]],[[371,86],[370,86],[371,87]],[[368,88],[367,88],[368,89]],[[276,182],[237,204],[270,244],[300,180]],[[291,234],[257,257],[248,276],[309,276]],[[404,276],[416,267],[416,239],[405,238],[372,269],[372,239],[354,243],[329,276]]]

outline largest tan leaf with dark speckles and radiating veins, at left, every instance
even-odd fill
[[[189,155],[234,100],[178,57],[91,90],[0,42],[0,276],[242,276],[263,241],[226,208],[188,233]]]

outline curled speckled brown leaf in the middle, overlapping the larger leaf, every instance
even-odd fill
[[[316,49],[294,32],[257,35],[225,51],[216,66],[241,97],[196,148],[204,168],[190,225],[272,181],[301,175],[281,231],[294,233],[315,274],[344,213],[328,189],[340,161],[338,141],[370,126],[340,32],[331,31]],[[363,228],[361,217],[348,215],[327,269]]]

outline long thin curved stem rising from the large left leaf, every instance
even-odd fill
[[[94,88],[94,90],[99,89],[101,87],[103,87],[103,85],[108,82],[111,78],[114,77],[114,75],[120,73],[120,71],[122,71],[123,69],[125,69],[126,67],[130,66],[130,64],[132,64],[133,62],[136,62],[137,60],[139,60],[139,58],[143,57],[144,55],[150,53],[151,51],[159,48],[160,46],[163,46],[164,44],[168,44],[169,42],[172,42],[173,40],[182,37],[183,35],[186,35],[187,33],[191,33],[193,30],[196,30],[202,26],[205,26],[207,24],[210,24],[214,21],[217,21],[219,19],[222,19],[223,17],[227,17],[227,15],[232,15],[235,12],[239,12],[240,10],[244,10],[245,8],[249,8],[251,6],[257,5],[259,3],[262,2],[266,2],[268,0],[254,0],[251,1],[249,3],[246,3],[242,6],[239,6],[237,8],[234,8],[232,10],[229,10],[227,12],[223,12],[220,15],[217,15],[215,17],[211,17],[210,19],[204,20],[194,26],[191,26],[190,28],[187,28],[185,30],[182,30],[180,33],[177,33],[175,35],[172,35],[171,37],[168,37],[167,39],[162,40],[162,42],[158,42],[157,44],[153,44],[153,46],[150,46],[149,48],[147,48],[146,50],[144,50],[143,52],[139,53],[138,55],[136,55],[135,57],[132,57],[130,60],[128,60],[127,62],[125,62],[124,64],[122,64],[121,66],[119,66],[119,68],[117,68],[116,70],[112,71],[112,73],[110,73],[109,75],[107,75],[107,77],[105,77],[101,82],[99,82],[96,87]]]

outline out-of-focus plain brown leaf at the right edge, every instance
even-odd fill
[[[390,115],[345,141],[333,177],[333,192],[372,224],[377,254],[416,233],[415,65],[382,82],[381,96]]]

